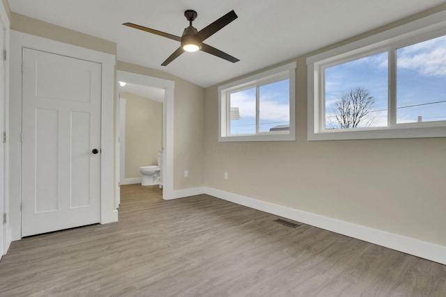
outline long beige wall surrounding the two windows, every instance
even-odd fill
[[[446,246],[446,138],[307,141],[315,53],[295,59],[296,141],[218,143],[217,86],[206,89],[206,186]]]

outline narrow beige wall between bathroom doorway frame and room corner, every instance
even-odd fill
[[[203,186],[204,89],[160,70],[122,61],[117,65],[118,70],[175,81],[174,190]]]

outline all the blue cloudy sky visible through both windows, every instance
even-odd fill
[[[372,127],[387,126],[388,54],[382,53],[325,69],[326,128],[336,128],[336,102],[348,90],[366,88],[374,97]],[[289,81],[261,86],[259,131],[289,125]],[[240,119],[231,134],[254,134],[256,88],[231,94]],[[446,120],[446,36],[397,49],[397,123]]]

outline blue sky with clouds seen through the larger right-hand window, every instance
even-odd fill
[[[387,125],[387,51],[325,70],[326,128],[336,102],[363,87],[375,99],[372,127]],[[397,49],[397,123],[446,120],[446,36]],[[440,103],[437,103],[440,102]]]

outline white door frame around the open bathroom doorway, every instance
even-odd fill
[[[134,83],[140,86],[164,89],[163,124],[162,124],[162,198],[164,200],[176,198],[174,196],[174,93],[175,81],[149,77],[142,74],[118,70],[118,81]],[[118,105],[118,104],[117,104]],[[119,105],[118,105],[119,106]],[[118,113],[118,112],[117,112]],[[116,145],[119,145],[116,141]],[[120,176],[118,165],[116,165],[117,176]]]

